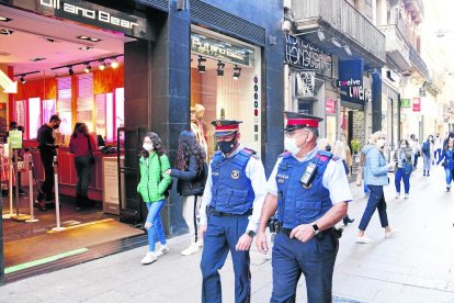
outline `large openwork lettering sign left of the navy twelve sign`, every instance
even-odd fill
[[[292,66],[311,69],[315,72],[331,77],[332,58],[324,50],[299,37],[285,35],[285,63]]]

